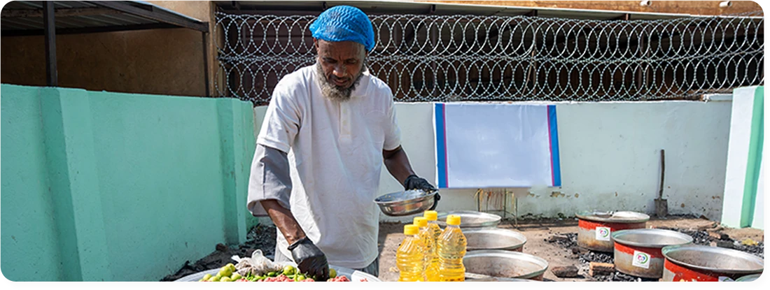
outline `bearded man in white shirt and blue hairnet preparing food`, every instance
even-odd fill
[[[310,31],[316,64],[280,80],[257,137],[249,212],[276,225],[276,262],[293,260],[322,282],[329,264],[377,276],[383,163],[407,190],[435,188],[413,172],[393,94],[367,70],[367,15],[336,6]]]

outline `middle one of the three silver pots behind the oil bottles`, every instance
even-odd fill
[[[467,251],[507,250],[524,252],[527,237],[505,228],[471,228],[463,231]]]

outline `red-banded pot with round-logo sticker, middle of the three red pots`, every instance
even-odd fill
[[[661,249],[668,245],[687,245],[692,240],[681,232],[657,228],[613,232],[615,268],[637,277],[661,278],[665,262]]]

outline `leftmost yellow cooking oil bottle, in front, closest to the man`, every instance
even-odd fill
[[[427,282],[425,277],[425,245],[420,238],[420,228],[417,225],[404,225],[403,235],[406,235],[396,252],[396,263],[400,272],[399,282]]]

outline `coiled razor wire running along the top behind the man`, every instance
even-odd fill
[[[219,95],[266,104],[313,65],[315,15],[217,12]],[[370,73],[397,102],[695,99],[765,82],[764,18],[370,15]]]

